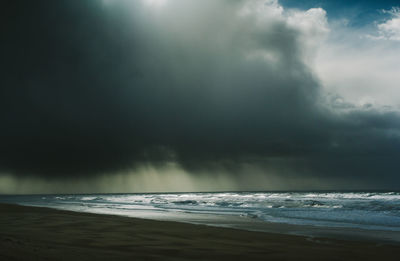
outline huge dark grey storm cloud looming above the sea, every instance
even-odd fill
[[[321,106],[301,32],[268,10],[240,12],[244,4],[10,1],[2,170],[90,175],[176,161],[196,171],[279,159],[298,175],[395,178],[398,114]]]

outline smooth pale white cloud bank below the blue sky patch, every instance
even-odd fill
[[[379,37],[372,36],[376,27],[329,23],[330,31],[317,49],[314,63],[326,92],[339,94],[355,106],[400,108],[400,45],[390,41],[400,37],[399,10],[386,11],[391,19],[378,25]],[[395,31],[397,24],[399,31]]]

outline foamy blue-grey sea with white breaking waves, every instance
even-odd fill
[[[207,214],[294,225],[400,231],[399,192],[3,195],[0,202],[159,220]]]

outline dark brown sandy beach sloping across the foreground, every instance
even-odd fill
[[[0,260],[399,260],[400,245],[0,204]]]

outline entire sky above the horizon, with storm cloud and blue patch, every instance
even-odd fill
[[[400,189],[397,1],[6,1],[0,193]]]

